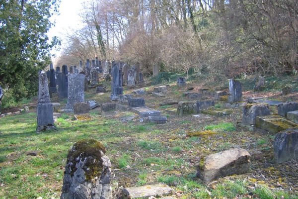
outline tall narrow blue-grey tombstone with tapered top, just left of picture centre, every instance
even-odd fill
[[[113,73],[113,81],[112,81],[111,100],[119,100],[119,98],[117,96],[123,94],[122,70],[119,69],[119,66],[115,65],[113,67],[112,73]]]

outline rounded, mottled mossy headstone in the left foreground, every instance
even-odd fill
[[[111,162],[97,140],[77,141],[68,154],[61,199],[112,199]]]

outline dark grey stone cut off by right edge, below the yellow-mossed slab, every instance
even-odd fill
[[[274,159],[276,163],[298,160],[298,128],[281,131],[275,135]]]

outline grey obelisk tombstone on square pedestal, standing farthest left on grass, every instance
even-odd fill
[[[41,71],[38,84],[38,103],[36,108],[37,128],[36,132],[56,129],[53,118],[53,104],[50,100],[47,74]]]

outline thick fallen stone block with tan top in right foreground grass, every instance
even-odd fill
[[[232,148],[209,155],[197,165],[197,176],[204,182],[234,174],[244,174],[250,168],[250,154],[241,148]]]

